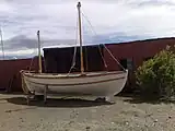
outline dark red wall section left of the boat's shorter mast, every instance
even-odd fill
[[[31,66],[32,59],[1,60],[0,61],[0,88],[12,92],[21,92],[21,70],[26,70]],[[37,59],[33,59],[32,70],[37,70]]]

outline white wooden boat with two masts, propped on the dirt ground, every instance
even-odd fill
[[[84,72],[80,8],[81,3],[79,2],[81,72],[65,74],[42,73],[40,40],[38,31],[39,72],[34,73],[31,71],[21,71],[23,82],[25,83],[24,91],[28,91],[35,95],[55,94],[58,96],[95,96],[110,98],[124,88],[128,78],[128,70]]]

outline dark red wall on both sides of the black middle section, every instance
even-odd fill
[[[129,71],[127,85],[135,84],[135,70],[141,66],[144,58],[153,57],[166,45],[175,45],[175,38],[149,39],[122,44],[106,44],[106,47],[118,59],[132,59],[133,69]],[[104,58],[108,70],[118,70],[119,67],[104,48]],[[20,70],[26,70],[32,59],[0,61],[0,88],[8,88],[11,82],[12,91],[22,91]],[[37,58],[33,60],[32,70],[37,70]]]

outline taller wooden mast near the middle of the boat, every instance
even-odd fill
[[[81,73],[84,73],[84,63],[83,63],[83,49],[82,49],[82,28],[81,28],[81,2],[78,2],[78,12],[79,12],[79,38],[80,38],[80,59],[81,59]]]

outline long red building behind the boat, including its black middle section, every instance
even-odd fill
[[[135,71],[142,62],[155,53],[165,49],[166,46],[174,46],[175,38],[159,38],[148,40],[137,40],[119,44],[106,44],[107,49],[115,58],[127,69],[129,69],[128,87],[135,86]],[[68,72],[71,67],[73,48],[44,49],[46,72]],[[89,46],[84,56],[90,64],[85,62],[86,71],[105,70],[103,59],[97,52],[95,46]],[[61,50],[61,51],[60,51]],[[107,63],[108,70],[120,70],[117,62],[112,58],[108,51],[101,46],[102,55]],[[79,53],[79,50],[78,50]],[[90,55],[91,53],[91,55]],[[88,57],[89,56],[89,57]],[[78,58],[79,55],[78,55]],[[85,60],[85,59],[84,59]],[[30,68],[32,59],[23,60],[4,60],[0,61],[0,88],[9,88],[12,91],[22,91],[20,70]],[[32,70],[37,70],[37,59],[34,59]],[[74,71],[80,71],[80,61]],[[127,88],[128,88],[127,87]]]

